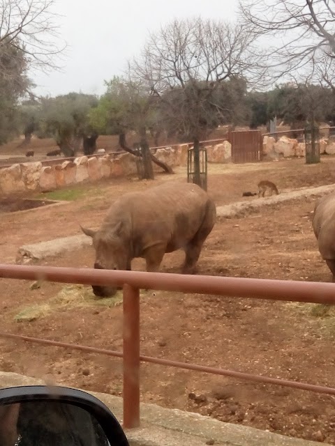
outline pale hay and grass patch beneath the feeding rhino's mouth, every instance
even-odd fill
[[[53,312],[67,311],[85,307],[115,307],[122,303],[122,291],[118,290],[112,298],[98,299],[90,286],[64,286],[57,295],[46,302],[23,307],[15,314],[16,322],[31,322],[49,316]]]

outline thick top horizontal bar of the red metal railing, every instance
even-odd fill
[[[155,291],[335,304],[335,284],[325,282],[6,264],[0,264],[0,277],[84,285],[129,284]]]

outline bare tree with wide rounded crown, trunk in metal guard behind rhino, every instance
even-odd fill
[[[200,185],[200,139],[218,124],[223,106],[219,84],[234,77],[260,80],[260,54],[247,27],[214,20],[174,20],[149,36],[131,64],[133,77],[159,98],[170,125],[187,129],[194,143],[195,177]]]

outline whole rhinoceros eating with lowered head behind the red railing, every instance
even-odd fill
[[[216,207],[207,192],[192,183],[170,182],[115,201],[98,231],[82,231],[93,239],[94,268],[131,270],[135,257],[157,271],[166,252],[184,249],[183,272],[195,272],[204,240],[216,221]],[[113,286],[92,286],[99,297],[114,295]]]

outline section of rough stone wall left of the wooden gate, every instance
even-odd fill
[[[231,162],[232,151],[228,141],[207,141],[209,162]],[[211,144],[210,144],[211,143]],[[171,167],[186,166],[189,144],[158,148],[155,156]],[[137,174],[136,158],[130,153],[121,155],[82,156],[73,161],[43,166],[42,162],[13,164],[0,170],[0,194],[25,191],[48,192],[83,181],[94,182],[101,178],[118,178]],[[154,171],[161,171],[154,164]]]

